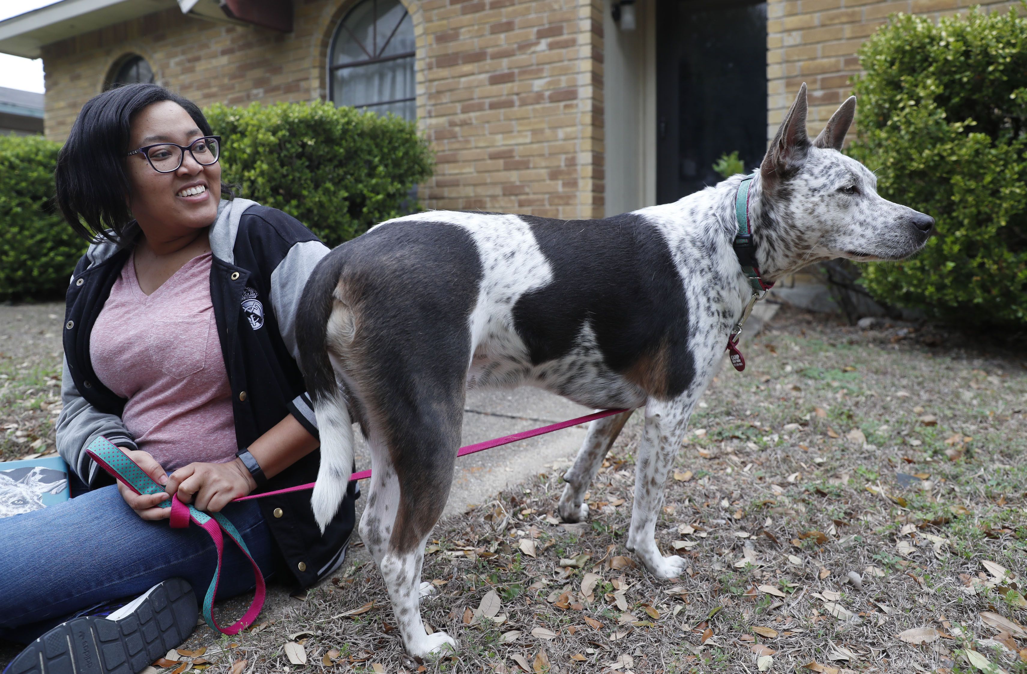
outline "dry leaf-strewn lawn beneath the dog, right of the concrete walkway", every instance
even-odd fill
[[[458,652],[403,653],[357,548],[299,610],[193,668],[1027,672],[1027,361],[969,342],[779,312],[703,396],[668,480],[656,534],[681,579],[623,547],[636,412],[586,523],[558,522],[566,466],[539,466],[436,527],[422,607]]]

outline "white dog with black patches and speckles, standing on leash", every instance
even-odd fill
[[[820,260],[899,260],[926,241],[934,221],[879,197],[874,174],[839,152],[854,111],[849,98],[810,142],[803,85],[770,145],[749,199],[765,280]],[[626,545],[654,576],[682,572],[654,528],[688,418],[752,295],[732,248],[741,179],[596,221],[417,213],[317,266],[297,327],[321,440],[313,511],[324,525],[345,493],[356,421],[374,471],[360,536],[408,652],[456,645],[425,632],[418,602],[467,388],[531,385],[588,407],[644,408]],[[630,414],[589,426],[564,476],[564,520],[587,515],[583,494]]]

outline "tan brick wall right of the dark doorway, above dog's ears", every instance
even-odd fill
[[[1005,11],[1009,2],[969,0],[768,0],[767,137],[795,100],[809,87],[809,129],[819,132],[850,93],[849,77],[860,72],[857,49],[887,16],[902,11],[939,16],[973,4]],[[859,109],[857,110],[859,121]]]

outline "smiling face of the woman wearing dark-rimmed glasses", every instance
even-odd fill
[[[177,103],[147,106],[131,120],[128,152],[157,143],[188,146],[203,132]],[[179,152],[172,148],[173,152]],[[148,237],[176,238],[213,224],[221,199],[221,164],[203,166],[185,153],[182,165],[159,173],[142,153],[125,159],[131,190],[128,206]],[[174,165],[174,164],[173,164]],[[199,188],[198,194],[192,194]],[[190,192],[189,196],[183,194]]]

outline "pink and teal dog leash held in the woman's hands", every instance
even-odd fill
[[[491,449],[492,447],[498,447],[500,445],[509,444],[510,442],[517,442],[518,440],[526,440],[528,438],[533,438],[537,435],[544,435],[546,433],[551,433],[554,431],[559,431],[571,426],[577,426],[578,424],[586,424],[588,422],[594,422],[597,419],[603,419],[604,417],[612,417],[613,414],[619,414],[621,412],[629,411],[627,409],[604,409],[603,411],[594,412],[592,414],[585,414],[584,417],[578,417],[576,419],[571,419],[566,422],[560,422],[558,424],[549,424],[548,426],[543,426],[541,428],[532,429],[530,431],[522,431],[521,433],[512,433],[510,435],[504,435],[501,438],[495,438],[493,440],[486,440],[484,442],[478,442],[476,444],[468,444],[465,447],[460,447],[457,451],[457,457],[464,457],[466,454],[472,454],[476,451],[482,451],[484,449]],[[118,447],[111,444],[107,438],[98,437],[93,440],[89,446],[86,448],[89,455],[96,461],[102,468],[104,468],[108,473],[113,475],[116,479],[120,480],[131,488],[137,493],[158,493],[162,490],[162,487],[154,482],[149,475],[143,472],[135,462],[128,459],[128,455],[121,451]],[[371,477],[371,471],[359,471],[358,473],[353,473],[349,480],[364,480]],[[276,493],[288,493],[289,491],[300,491],[302,489],[312,489],[315,482],[310,482],[308,484],[300,484],[298,486],[287,487],[284,489],[276,489],[274,491],[265,491],[263,493],[253,493],[246,497],[239,497],[238,499],[233,499],[232,501],[249,501],[250,499],[263,499],[264,497],[274,495]],[[218,566],[215,569],[214,579],[211,582],[211,586],[207,588],[206,595],[203,597],[202,613],[203,619],[206,624],[211,626],[212,629],[218,630],[223,634],[238,634],[257,620],[260,616],[261,609],[264,607],[264,574],[261,573],[260,567],[257,566],[257,562],[254,560],[253,556],[250,554],[250,550],[246,548],[246,544],[242,541],[242,536],[236,530],[235,526],[228,520],[227,517],[219,513],[204,513],[196,510],[193,506],[183,504],[179,501],[177,494],[172,494],[169,501],[165,501],[160,504],[161,507],[170,507],[170,518],[169,524],[174,528],[184,528],[189,526],[190,522],[195,522],[204,531],[210,534],[211,539],[214,541],[214,546],[218,551]],[[224,537],[222,536],[222,530],[228,533],[229,538],[239,547],[242,553],[250,559],[250,563],[254,569],[254,577],[257,581],[257,591],[254,595],[254,600],[250,604],[250,608],[246,610],[245,614],[233,623],[230,627],[222,628],[214,620],[214,600],[218,592],[218,579],[221,576],[221,561],[222,553],[224,552]]]

